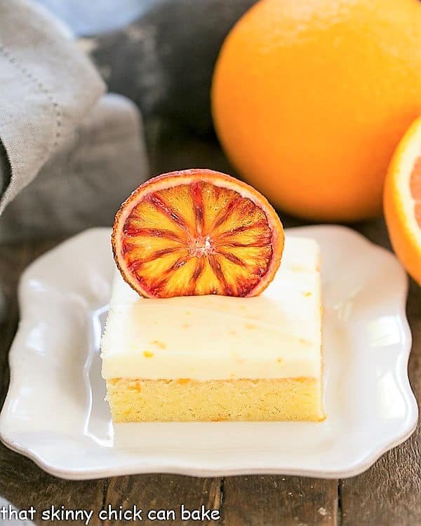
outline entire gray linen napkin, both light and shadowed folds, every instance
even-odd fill
[[[146,178],[138,109],[101,96],[69,31],[27,0],[0,2],[0,72],[0,240],[110,224]]]

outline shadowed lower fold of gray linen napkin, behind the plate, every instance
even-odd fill
[[[36,178],[6,208],[0,240],[73,234],[112,224],[121,202],[146,179],[138,109],[121,95],[99,100]]]

